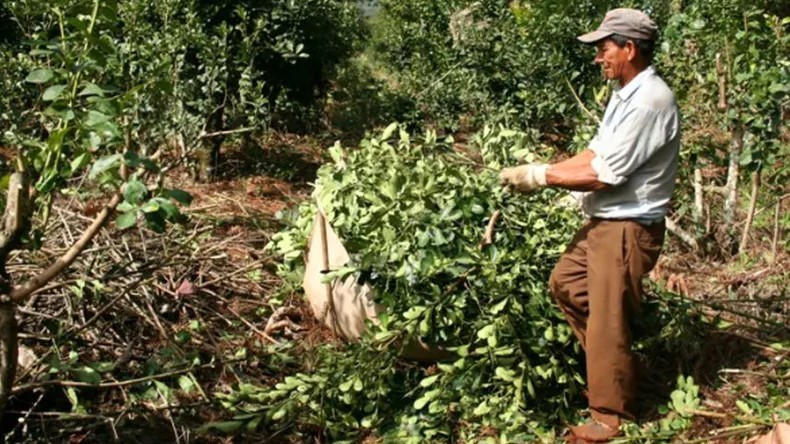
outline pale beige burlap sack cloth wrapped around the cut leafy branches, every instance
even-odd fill
[[[325,231],[321,230],[322,224]],[[313,314],[336,335],[354,340],[364,333],[365,321],[378,324],[378,315],[384,307],[374,302],[373,288],[367,283],[360,284],[354,276],[329,284],[322,282],[326,270],[336,270],[350,260],[337,233],[319,211],[313,219],[313,229],[305,252],[302,286]],[[416,342],[404,347],[402,356],[419,361],[436,361],[448,359],[452,354],[441,347]]]

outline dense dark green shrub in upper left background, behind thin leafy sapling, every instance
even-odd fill
[[[34,64],[28,41],[61,37],[58,16],[71,25],[90,14],[88,0],[15,0],[3,23],[17,35],[0,44],[3,131],[29,126],[23,116],[36,94],[22,80]],[[135,140],[156,148],[180,139],[185,148],[214,145],[204,133],[265,130],[272,122],[309,130],[320,121],[337,66],[364,35],[355,2],[247,0],[99,2],[112,14],[96,38],[118,53],[104,58],[106,84],[136,88],[127,116]],[[10,34],[10,33],[9,33]],[[217,147],[214,147],[217,148]]]

